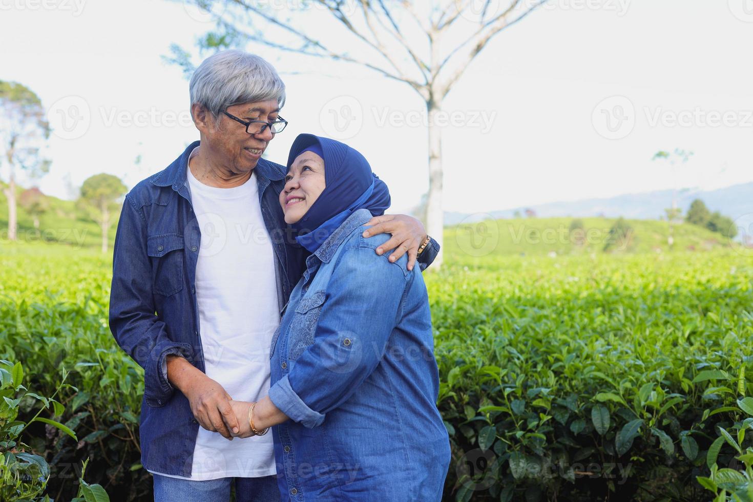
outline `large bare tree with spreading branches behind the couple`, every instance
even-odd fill
[[[311,0],[286,2],[273,8],[270,2],[228,0],[215,5],[191,0],[215,14],[218,32],[200,42],[204,49],[242,46],[255,42],[275,50],[330,58],[361,65],[385,78],[403,82],[421,96],[428,114],[428,175],[426,202],[428,233],[442,242],[441,127],[437,114],[447,93],[462,77],[471,61],[504,29],[518,23],[546,0]],[[272,2],[274,3],[274,2]],[[311,21],[312,10],[334,20]],[[319,32],[316,32],[319,29]],[[348,35],[352,43],[334,47],[325,38]],[[187,53],[172,48],[175,62],[185,69]],[[357,55],[356,55],[357,54]],[[442,254],[432,268],[442,263]]]

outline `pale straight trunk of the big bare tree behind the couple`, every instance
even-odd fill
[[[428,198],[426,200],[426,232],[442,248],[431,263],[438,270],[444,260],[444,209],[442,206],[442,129],[437,125],[436,114],[441,112],[441,102],[429,99],[428,112]]]

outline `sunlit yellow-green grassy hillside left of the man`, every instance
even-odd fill
[[[7,184],[2,184],[7,187]],[[17,189],[18,195],[23,188]],[[59,242],[61,244],[99,248],[102,233],[99,225],[75,207],[75,202],[47,196],[49,210],[39,218],[39,229],[34,228],[34,219],[18,205],[18,239],[23,242]],[[110,245],[115,239],[116,224],[109,231]],[[8,239],[8,199],[0,191],[0,242]]]

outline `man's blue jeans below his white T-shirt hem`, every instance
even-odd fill
[[[209,481],[152,475],[154,502],[229,502],[230,485],[235,483],[236,502],[279,502],[277,476],[261,478],[220,478]]]

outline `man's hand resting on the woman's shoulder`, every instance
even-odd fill
[[[413,270],[419,246],[426,239],[426,230],[420,221],[405,214],[383,214],[383,216],[374,216],[366,224],[373,226],[364,231],[362,234],[364,237],[376,236],[380,233],[392,234],[389,241],[377,248],[377,254],[384,254],[397,248],[389,255],[389,260],[395,262],[407,252],[407,268]]]

